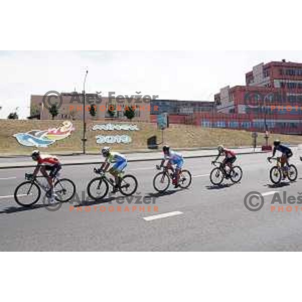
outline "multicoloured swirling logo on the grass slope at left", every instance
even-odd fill
[[[13,136],[21,145],[26,147],[48,147],[57,140],[68,137],[72,131],[74,131],[72,123],[64,121],[58,128],[31,130],[26,133],[17,133]]]

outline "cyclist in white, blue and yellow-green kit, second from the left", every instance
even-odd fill
[[[127,159],[124,155],[118,152],[111,152],[110,147],[102,148],[101,153],[106,158],[105,162],[101,166],[101,170],[106,172],[110,164],[114,164],[108,172],[115,179],[115,185],[113,187],[112,193],[116,193],[118,191],[119,174],[126,169]]]

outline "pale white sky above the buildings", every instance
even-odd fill
[[[245,73],[264,62],[302,62],[301,51],[0,51],[0,118],[18,107],[29,116],[30,96],[82,91],[159,95],[213,101],[220,88],[245,85]]]

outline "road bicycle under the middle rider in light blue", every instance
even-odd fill
[[[161,170],[160,167],[157,166],[158,170]],[[170,171],[171,172],[170,172]],[[169,173],[170,172],[170,173]],[[174,179],[174,173],[172,169],[167,166],[163,167],[163,171],[159,172],[155,175],[153,179],[153,186],[159,193],[164,193],[168,190],[171,180]],[[192,175],[188,170],[181,170],[179,173],[179,187],[182,189],[187,189],[192,183]]]

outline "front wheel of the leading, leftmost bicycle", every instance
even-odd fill
[[[14,193],[16,202],[24,207],[29,207],[38,202],[41,196],[40,187],[31,181],[20,184]]]

